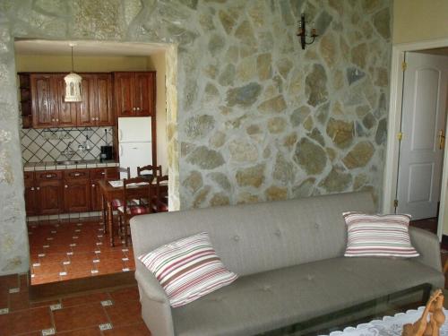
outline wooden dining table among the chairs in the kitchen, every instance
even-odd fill
[[[123,180],[122,180],[123,181]],[[124,186],[113,186],[108,180],[99,180],[99,190],[101,193],[101,211],[105,233],[109,235],[110,246],[114,246],[114,212],[112,209],[112,201],[115,199],[123,199]],[[160,185],[164,192],[168,192],[168,185]],[[129,188],[127,189],[129,193]],[[132,188],[132,197],[135,199],[147,198],[148,189],[144,186],[135,185]],[[151,183],[151,194],[157,193],[157,185],[155,180]]]

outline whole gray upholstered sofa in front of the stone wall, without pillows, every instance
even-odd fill
[[[444,287],[438,239],[418,228],[409,230],[418,258],[343,257],[343,211],[374,212],[371,195],[333,194],[134,217],[143,320],[154,336],[252,335],[422,283]],[[137,256],[202,231],[240,277],[171,308]]]

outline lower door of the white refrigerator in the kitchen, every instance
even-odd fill
[[[119,144],[120,167],[130,168],[131,177],[137,176],[137,167],[152,164],[151,142],[125,142]],[[125,178],[121,173],[120,178]]]

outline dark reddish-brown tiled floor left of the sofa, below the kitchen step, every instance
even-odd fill
[[[0,277],[2,336],[146,336],[136,286],[31,303],[27,274]]]

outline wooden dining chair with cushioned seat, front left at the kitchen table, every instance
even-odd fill
[[[131,228],[129,220],[134,216],[151,213],[151,183],[152,177],[133,177],[123,180],[123,205],[118,207],[118,219],[120,227],[120,237],[125,240],[125,246],[128,246],[128,237],[131,237]],[[143,190],[142,190],[143,189]],[[137,204],[133,200],[146,195],[148,204]]]

